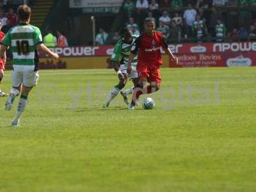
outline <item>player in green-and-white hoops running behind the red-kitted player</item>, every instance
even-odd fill
[[[119,83],[113,87],[113,90],[111,90],[111,92],[109,92],[108,99],[106,103],[103,105],[103,108],[109,107],[111,100],[113,100],[116,97],[116,95],[120,92],[120,90],[122,90],[122,88],[124,88],[125,84],[127,83],[128,58],[131,52],[131,46],[135,42],[136,38],[138,38],[138,36],[132,35],[132,32],[129,31],[129,29],[123,29],[122,36],[124,36],[124,38],[121,38],[116,43],[113,54],[110,58],[110,65],[112,65],[113,68],[115,69],[116,74],[118,75],[118,78],[119,78]],[[132,79],[134,86],[138,83],[138,73],[136,71],[137,61],[138,61],[138,58],[135,55],[131,61],[131,72],[129,76],[130,79]],[[127,95],[133,92],[133,88],[134,87],[132,86],[131,88],[120,92],[121,95],[124,97],[124,102],[126,104],[129,104]]]

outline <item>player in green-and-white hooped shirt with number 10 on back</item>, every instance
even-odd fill
[[[13,100],[20,94],[17,113],[13,118],[12,125],[19,126],[20,116],[28,102],[29,92],[38,81],[38,54],[37,49],[42,50],[54,59],[58,54],[49,50],[42,42],[40,29],[29,24],[31,9],[29,6],[20,5],[18,10],[20,23],[11,28],[1,41],[0,56],[3,56],[7,47],[11,47],[13,53],[13,87],[5,104],[5,109],[12,108]]]

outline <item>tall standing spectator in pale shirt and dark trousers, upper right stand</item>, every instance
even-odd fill
[[[196,20],[196,10],[193,9],[191,3],[188,3],[188,8],[185,10],[184,15],[185,38],[192,35],[192,25]]]

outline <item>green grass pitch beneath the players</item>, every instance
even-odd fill
[[[102,109],[113,70],[41,71],[19,128],[0,98],[0,191],[255,191],[256,68],[162,75],[153,110]]]

